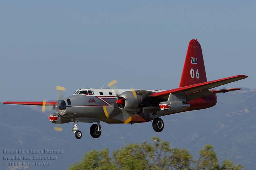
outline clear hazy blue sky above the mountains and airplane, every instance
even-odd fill
[[[178,87],[190,39],[208,80],[256,88],[256,1],[2,1],[0,101],[56,99],[55,86]]]

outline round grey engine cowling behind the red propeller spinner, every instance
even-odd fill
[[[134,91],[125,91],[119,99],[124,98],[124,103],[120,104],[119,107],[128,113],[137,113],[141,111],[140,104],[142,103],[141,96],[136,94]]]

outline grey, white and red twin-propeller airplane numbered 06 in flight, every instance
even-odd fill
[[[170,73],[170,77],[171,77]],[[57,101],[3,102],[3,104],[51,106],[56,113],[49,114],[49,121],[56,124],[73,122],[71,131],[77,139],[82,132],[78,122],[95,123],[90,135],[99,138],[102,133],[100,121],[106,123],[142,123],[152,121],[153,130],[162,132],[164,121],[161,116],[206,109],[216,105],[217,93],[240,90],[241,88],[210,90],[212,88],[242,80],[245,75],[207,81],[202,49],[196,39],[189,42],[179,87],[171,90],[141,90],[114,88],[117,81],[106,89],[83,88],[71,96]],[[64,87],[56,87],[65,90]],[[97,124],[96,124],[97,123]]]

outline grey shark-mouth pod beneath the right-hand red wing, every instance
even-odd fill
[[[177,113],[183,110],[186,110],[190,107],[190,104],[184,101],[175,101],[175,102],[161,102],[159,107],[162,111],[168,113]]]

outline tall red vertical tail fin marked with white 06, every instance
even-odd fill
[[[207,82],[202,49],[197,39],[189,42],[179,87]]]

